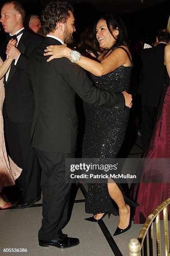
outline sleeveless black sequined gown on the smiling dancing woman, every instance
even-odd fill
[[[128,57],[130,59],[129,54]],[[93,74],[91,77],[100,89],[111,92],[128,91],[133,67],[131,59],[130,62],[131,67],[121,66],[102,77],[96,77]],[[125,107],[125,111],[120,111],[90,105],[90,114],[86,120],[83,139],[82,157],[116,158],[125,136],[129,113],[130,109],[127,107]],[[121,189],[120,184],[119,187]],[[127,202],[128,198],[125,196],[124,198]],[[110,198],[107,184],[88,184],[85,212],[118,214],[117,205]]]

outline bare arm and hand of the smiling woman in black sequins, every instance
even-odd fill
[[[44,55],[52,55],[47,61],[50,61],[54,58],[66,57],[70,58],[70,52],[72,50],[66,47],[66,45],[62,46],[47,46],[45,49]],[[77,62],[77,65],[82,67],[83,69],[89,71],[90,73],[100,77],[102,75],[108,74],[113,70],[117,69],[122,65],[129,65],[129,59],[125,51],[122,49],[115,49],[109,56],[107,56],[100,63],[89,59],[85,56],[81,56],[80,61]]]

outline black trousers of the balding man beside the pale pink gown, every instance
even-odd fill
[[[13,123],[4,118],[4,125],[7,154],[23,169],[15,183],[25,189],[25,200],[40,197],[40,164],[35,148],[28,145],[32,123]]]

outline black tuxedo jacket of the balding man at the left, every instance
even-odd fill
[[[31,51],[43,40],[24,31],[20,38],[17,48],[21,54],[15,66],[11,64],[10,73],[5,82],[5,102],[3,115],[14,123],[32,122],[34,113],[34,96],[30,87],[28,77],[28,57]],[[0,56],[3,61],[7,58],[5,51],[9,40],[5,41],[0,49]]]

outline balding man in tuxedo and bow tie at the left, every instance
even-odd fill
[[[41,195],[40,164],[35,149],[28,146],[34,112],[34,96],[28,77],[28,57],[43,39],[24,29],[24,18],[25,10],[20,3],[13,1],[2,6],[2,27],[6,33],[10,33],[10,38],[18,41],[17,48],[8,44],[8,40],[5,41],[1,46],[0,56],[3,61],[7,55],[14,59],[5,77],[3,115],[7,152],[23,169],[16,180],[23,195],[16,204],[19,208],[30,207]]]

